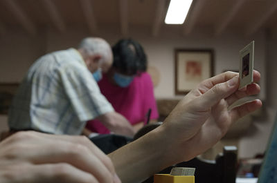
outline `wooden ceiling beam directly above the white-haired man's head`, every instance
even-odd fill
[[[79,0],[82,12],[84,12],[84,18],[87,21],[87,26],[89,27],[89,31],[91,34],[95,34],[97,32],[97,23],[96,18],[94,17],[94,13],[92,10],[92,3],[90,0]]]

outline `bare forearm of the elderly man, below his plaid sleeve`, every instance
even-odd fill
[[[106,126],[109,131],[120,134],[120,135],[126,135],[129,137],[134,136],[134,128],[132,125],[128,122],[128,120],[123,117],[123,115],[120,115],[116,112],[109,112],[105,113],[104,115],[98,116],[96,119],[98,119],[104,126]]]

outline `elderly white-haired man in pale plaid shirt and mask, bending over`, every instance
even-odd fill
[[[83,39],[78,49],[37,59],[10,108],[10,130],[80,135],[88,120],[98,119],[114,133],[134,135],[127,119],[114,111],[96,83],[100,70],[106,72],[112,60],[107,41],[95,37]]]

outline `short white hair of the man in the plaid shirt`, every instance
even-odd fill
[[[87,55],[101,55],[102,61],[106,61],[109,59],[109,55],[111,54],[111,46],[104,39],[98,37],[87,37],[82,39],[79,49],[84,50]]]

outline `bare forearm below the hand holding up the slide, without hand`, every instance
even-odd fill
[[[170,155],[172,149],[168,142],[170,139],[165,134],[163,128],[156,128],[135,142],[109,154],[123,183],[142,182],[154,173],[176,163],[175,157]]]

